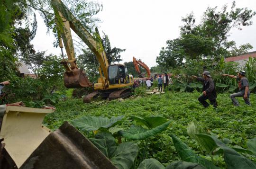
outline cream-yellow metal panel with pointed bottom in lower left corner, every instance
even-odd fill
[[[0,137],[5,149],[19,168],[51,132],[42,122],[52,109],[8,106]]]

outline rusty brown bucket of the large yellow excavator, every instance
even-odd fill
[[[92,84],[88,77],[81,69],[73,69],[72,71],[66,71],[64,73],[64,85],[67,88],[84,88],[92,87]]]

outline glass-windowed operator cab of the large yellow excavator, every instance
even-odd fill
[[[128,83],[128,69],[124,64],[114,64],[108,67],[110,84]]]

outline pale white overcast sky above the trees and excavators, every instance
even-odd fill
[[[156,56],[166,40],[179,37],[181,19],[193,11],[197,23],[207,7],[219,9],[232,0],[98,0],[103,10],[97,15],[102,23],[99,31],[109,36],[111,47],[126,49],[121,53],[122,62],[131,62],[132,57],[141,59],[149,67],[155,66]],[[237,7],[256,11],[255,0],[237,0]],[[229,8],[230,9],[230,8]],[[228,10],[229,11],[229,10]],[[232,30],[229,40],[237,45],[250,43],[256,51],[256,17],[253,25],[243,27],[242,31]],[[42,18],[37,17],[37,35],[32,44],[36,51],[47,50],[47,53],[59,55],[60,48],[53,47],[53,34],[46,35]]]

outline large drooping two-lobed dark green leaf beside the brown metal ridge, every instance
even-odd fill
[[[124,142],[116,146],[110,133],[101,132],[90,139],[119,169],[129,169],[137,156],[138,146],[134,142]]]

